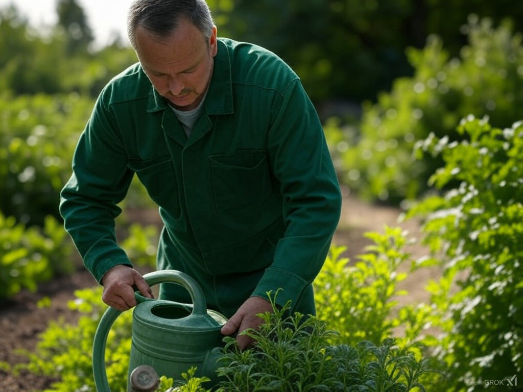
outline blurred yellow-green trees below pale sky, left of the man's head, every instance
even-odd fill
[[[15,6],[0,8],[0,91],[96,97],[112,76],[137,61],[118,41],[90,52],[86,45],[74,43],[62,25],[37,31]]]

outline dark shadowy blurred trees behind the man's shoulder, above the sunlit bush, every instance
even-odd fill
[[[467,42],[460,26],[471,13],[505,17],[523,28],[513,0],[208,0],[219,34],[258,43],[297,71],[316,101],[376,100],[395,78],[414,70],[405,48],[437,34],[451,56]]]

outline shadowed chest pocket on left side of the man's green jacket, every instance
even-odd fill
[[[151,199],[172,218],[178,218],[180,216],[178,186],[170,157],[131,159],[128,166],[137,174]]]

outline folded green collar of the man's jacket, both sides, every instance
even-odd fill
[[[218,39],[218,52],[214,56],[214,67],[211,76],[211,83],[204,102],[207,114],[232,114],[232,77],[231,60],[228,47]],[[144,72],[143,69],[141,72]],[[147,102],[147,112],[164,110],[167,107],[167,100],[162,97],[151,85],[151,93]]]

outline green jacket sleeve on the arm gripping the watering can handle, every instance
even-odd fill
[[[115,217],[121,213],[117,204],[133,176],[127,162],[116,121],[100,95],[79,138],[73,174],[60,200],[65,229],[98,282],[117,264],[131,266],[115,235]]]

